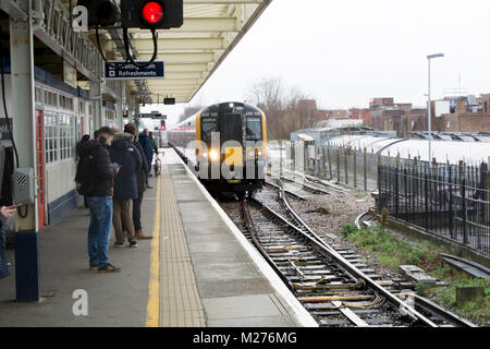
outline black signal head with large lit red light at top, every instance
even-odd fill
[[[121,0],[123,27],[170,29],[181,27],[183,23],[183,0]]]

